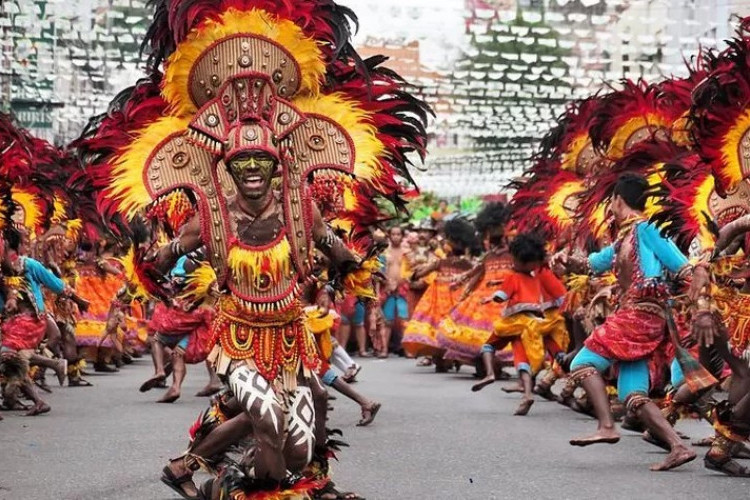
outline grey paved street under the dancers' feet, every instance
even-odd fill
[[[357,388],[383,403],[369,428],[357,428],[358,408],[339,397],[332,424],[351,448],[335,479],[369,500],[748,498],[750,480],[724,478],[702,461],[652,473],[662,452],[625,433],[619,445],[574,449],[569,437],[593,421],[555,403],[537,402],[513,417],[517,397],[500,384],[469,391],[468,369],[437,375],[413,361],[366,361]],[[0,422],[0,499],[60,500],[175,498],[159,482],[171,455],[186,443],[205,405],[192,395],[203,368],[188,373],[183,399],[157,405],[158,391],[140,394],[149,374],[140,360],[116,375],[93,376],[92,388],[55,390],[52,413]],[[706,425],[681,424],[694,437]],[[701,452],[702,453],[702,452]]]

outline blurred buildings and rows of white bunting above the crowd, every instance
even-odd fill
[[[436,112],[416,172],[433,199],[500,196],[564,104],[621,78],[686,73],[750,0],[340,0],[363,55]],[[0,109],[62,145],[141,75],[142,0],[0,0]]]

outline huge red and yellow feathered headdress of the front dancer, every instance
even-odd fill
[[[310,258],[301,201],[311,183],[322,195],[327,179],[346,177],[321,203],[353,232],[382,218],[379,198],[399,207],[407,154],[424,154],[429,108],[381,67],[384,58],[359,59],[352,19],[330,0],[158,3],[145,44],[152,76],[77,144],[100,205],[130,218],[171,191],[190,192],[219,281],[227,235],[217,221],[235,195],[225,165],[239,153],[278,159],[281,184],[294,190],[284,210],[298,267]]]

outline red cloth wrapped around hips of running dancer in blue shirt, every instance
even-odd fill
[[[637,361],[651,356],[666,338],[664,318],[626,306],[610,314],[585,345],[607,359]]]

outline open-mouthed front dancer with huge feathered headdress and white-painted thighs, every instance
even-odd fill
[[[112,211],[132,218],[171,191],[192,193],[197,216],[168,245],[137,258],[138,275],[160,293],[158,281],[176,260],[206,247],[221,295],[209,360],[243,410],[234,433],[208,432],[164,467],[162,481],[197,497],[192,477],[201,461],[252,431],[253,448],[223,471],[214,495],[303,494],[321,486],[300,474],[326,442],[317,417],[327,400],[301,285],[317,248],[334,281],[372,294],[369,259],[325,221],[339,218],[360,235],[382,217],[378,199],[406,192],[395,175],[408,175],[407,151],[423,151],[427,107],[378,68],[381,60],[356,63],[350,11],[332,1],[198,0],[157,9],[149,79],[120,96],[120,112],[97,118],[79,147],[98,160],[89,169],[106,179],[102,203]],[[115,151],[109,135],[97,143],[98,134],[120,131]],[[310,184],[330,176],[340,176],[334,185],[346,192],[321,210],[313,193],[339,191]]]

